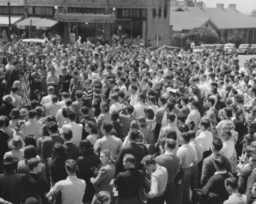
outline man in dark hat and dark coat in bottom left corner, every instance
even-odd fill
[[[23,174],[17,174],[19,159],[7,157],[4,159],[4,173],[0,175],[0,197],[11,203],[19,203],[21,199],[21,178]]]

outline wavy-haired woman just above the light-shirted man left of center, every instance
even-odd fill
[[[100,104],[100,110],[101,110],[101,114],[99,115],[99,117],[97,118],[97,125],[99,127],[98,129],[98,134],[99,134],[99,138],[103,137],[103,134],[101,132],[101,126],[102,126],[102,122],[103,121],[111,121],[111,115],[109,113],[109,104],[107,102],[102,102]]]

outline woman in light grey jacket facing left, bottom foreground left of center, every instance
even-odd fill
[[[109,150],[103,150],[100,152],[100,160],[103,166],[99,169],[97,177],[91,177],[90,181],[95,188],[95,195],[92,200],[92,204],[97,204],[97,196],[100,191],[107,191],[112,193],[110,181],[114,179],[116,167],[115,160]]]

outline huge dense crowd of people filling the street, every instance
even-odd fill
[[[256,203],[255,58],[0,48],[0,203]]]

